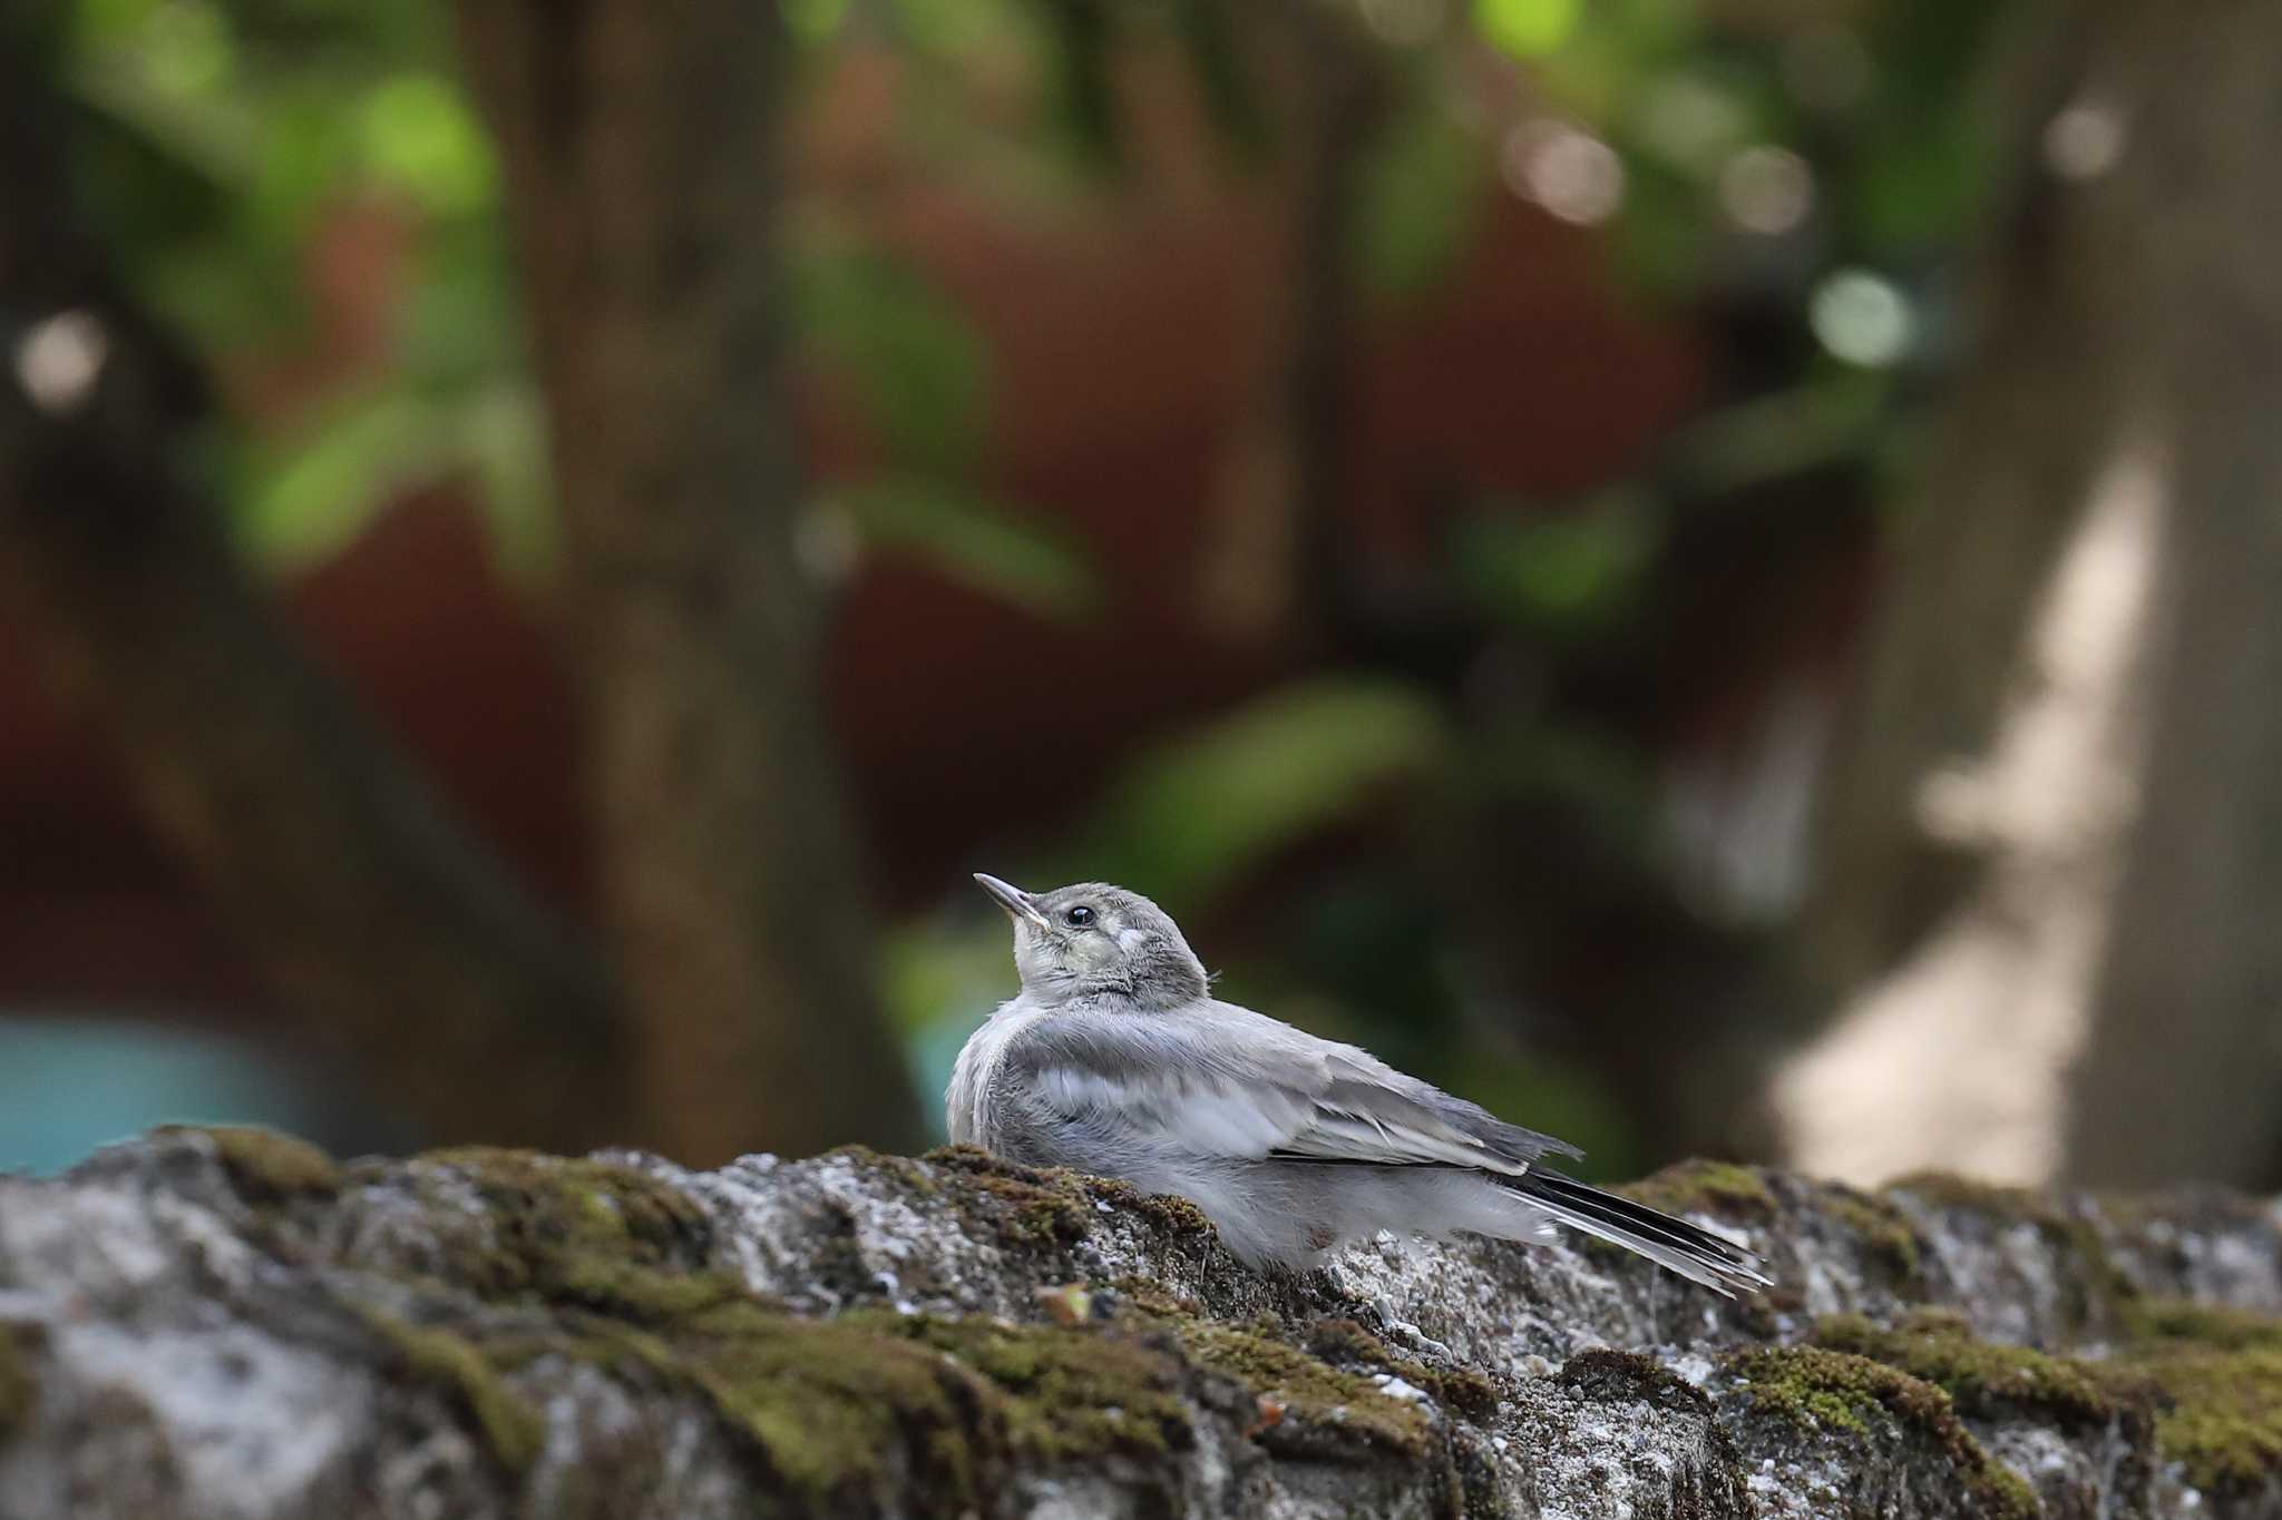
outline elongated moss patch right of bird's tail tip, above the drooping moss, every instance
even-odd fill
[[[1981,1340],[1965,1319],[1947,1313],[1917,1313],[1894,1329],[1860,1315],[1832,1315],[1816,1322],[1814,1340],[1935,1383],[1963,1413],[1981,1420],[2033,1413],[2083,1431],[2104,1429],[2134,1401],[2145,1404],[2145,1395],[2113,1367]]]

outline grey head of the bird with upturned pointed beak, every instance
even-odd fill
[[[1079,882],[1022,891],[995,875],[981,889],[1013,918],[1013,964],[1036,1003],[1123,996],[1141,1007],[1180,1007],[1209,978],[1171,914],[1136,891]]]

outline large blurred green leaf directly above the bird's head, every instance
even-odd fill
[[[1134,761],[1082,832],[1070,875],[1148,882],[1182,912],[1435,768],[1447,745],[1442,709],[1417,686],[1367,677],[1282,686]]]

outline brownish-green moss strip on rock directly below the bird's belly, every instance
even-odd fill
[[[1257,1438],[1264,1445],[1340,1458],[1365,1447],[1422,1456],[1433,1443],[1426,1408],[1276,1340],[1267,1326],[1246,1331],[1189,1322],[1178,1326],[1178,1335],[1196,1363],[1235,1379],[1262,1401]]]

